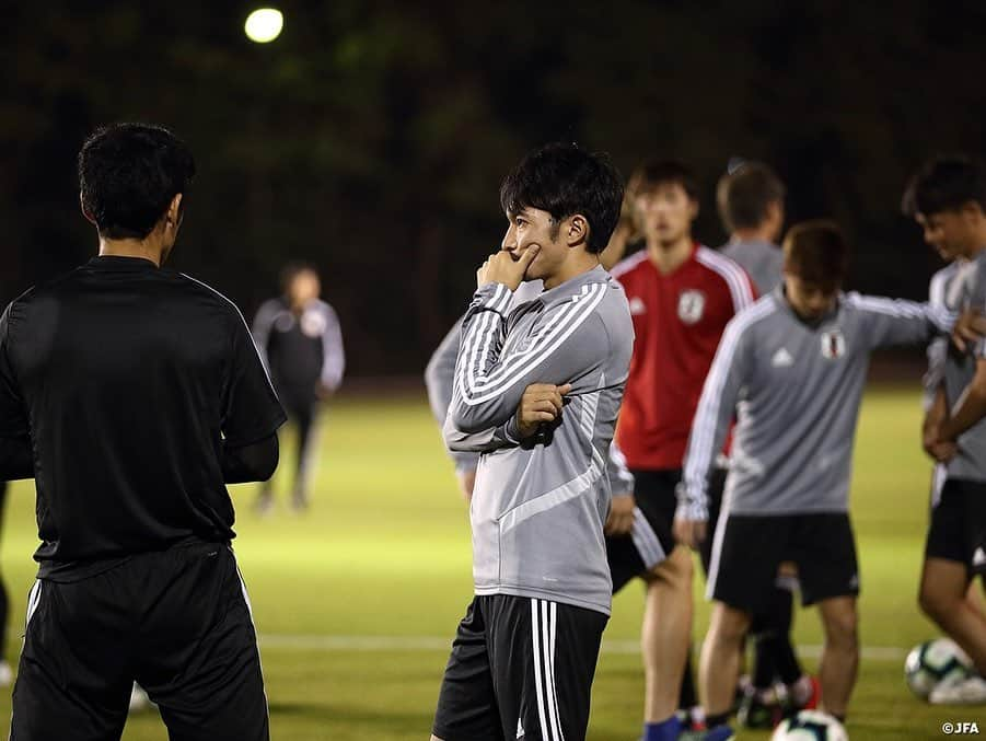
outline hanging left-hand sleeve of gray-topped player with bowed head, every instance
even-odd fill
[[[736,402],[752,370],[747,326],[736,319],[730,321],[706,377],[688,436],[685,470],[677,491],[677,518],[709,519],[709,474],[726,443]]]

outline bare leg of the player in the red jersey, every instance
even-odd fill
[[[647,578],[640,648],[643,653],[643,721],[677,711],[692,640],[692,553],[677,546]]]

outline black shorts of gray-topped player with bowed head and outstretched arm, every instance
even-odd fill
[[[727,514],[716,528],[709,599],[766,612],[784,561],[798,567],[801,604],[859,594],[856,539],[846,513]]]

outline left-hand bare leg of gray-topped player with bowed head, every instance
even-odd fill
[[[714,604],[698,669],[706,716],[728,715],[732,709],[740,673],[740,647],[749,629],[749,613],[721,602]]]

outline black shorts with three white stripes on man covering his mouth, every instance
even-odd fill
[[[444,741],[581,741],[606,615],[475,597],[459,624],[432,733]]]

